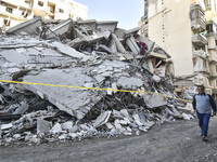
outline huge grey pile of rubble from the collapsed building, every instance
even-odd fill
[[[138,135],[193,118],[175,99],[170,56],[138,31],[35,17],[1,33],[0,145]]]

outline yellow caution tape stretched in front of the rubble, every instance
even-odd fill
[[[100,89],[100,87],[86,87],[86,86],[72,86],[72,85],[59,85],[59,84],[46,84],[46,83],[33,83],[33,82],[20,82],[20,81],[9,81],[9,80],[0,80],[0,82],[5,83],[17,83],[17,84],[31,84],[31,85],[44,85],[44,86],[59,86],[59,87],[73,87],[73,89],[84,89],[84,90],[99,90],[99,91],[114,91],[114,92],[130,92],[130,93],[148,93],[153,95],[158,95],[165,98],[173,98],[176,100],[182,100],[187,103],[192,103],[192,100],[181,99],[181,98],[175,98],[166,95],[162,95],[154,92],[145,92],[145,91],[130,91],[130,90],[114,90],[114,89]]]

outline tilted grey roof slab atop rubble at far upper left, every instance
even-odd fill
[[[35,18],[31,18],[29,21],[26,21],[20,25],[16,25],[10,29],[7,30],[7,33],[15,33],[20,35],[22,31],[26,33],[38,33],[36,29],[41,26],[42,19],[40,16],[36,16]]]

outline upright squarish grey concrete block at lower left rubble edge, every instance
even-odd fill
[[[37,134],[49,133],[50,122],[43,120],[42,118],[37,118]]]

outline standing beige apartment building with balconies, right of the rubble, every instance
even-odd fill
[[[213,94],[217,86],[216,15],[216,0],[144,0],[139,23],[141,35],[170,54],[176,77],[195,75],[191,85],[203,83]]]

